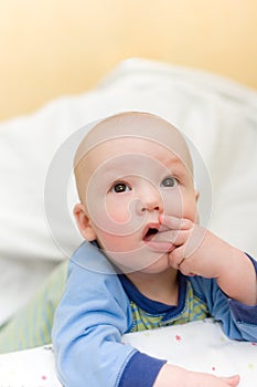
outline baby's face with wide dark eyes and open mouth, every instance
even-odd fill
[[[125,272],[169,266],[168,254],[175,245],[161,238],[167,230],[162,215],[196,218],[188,154],[183,147],[180,156],[175,150],[131,136],[108,139],[86,156],[87,216],[99,245]]]

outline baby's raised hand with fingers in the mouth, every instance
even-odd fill
[[[165,238],[170,238],[176,248],[169,254],[170,265],[179,269],[185,275],[201,275],[204,278],[218,278],[225,271],[226,262],[232,247],[189,219],[179,219],[170,216],[161,218]],[[164,236],[163,236],[164,238]]]

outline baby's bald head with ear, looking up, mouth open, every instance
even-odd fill
[[[151,114],[121,113],[96,124],[77,149],[75,178],[81,233],[133,270],[170,251],[171,243],[154,242],[163,215],[196,218],[186,143],[174,126]]]

